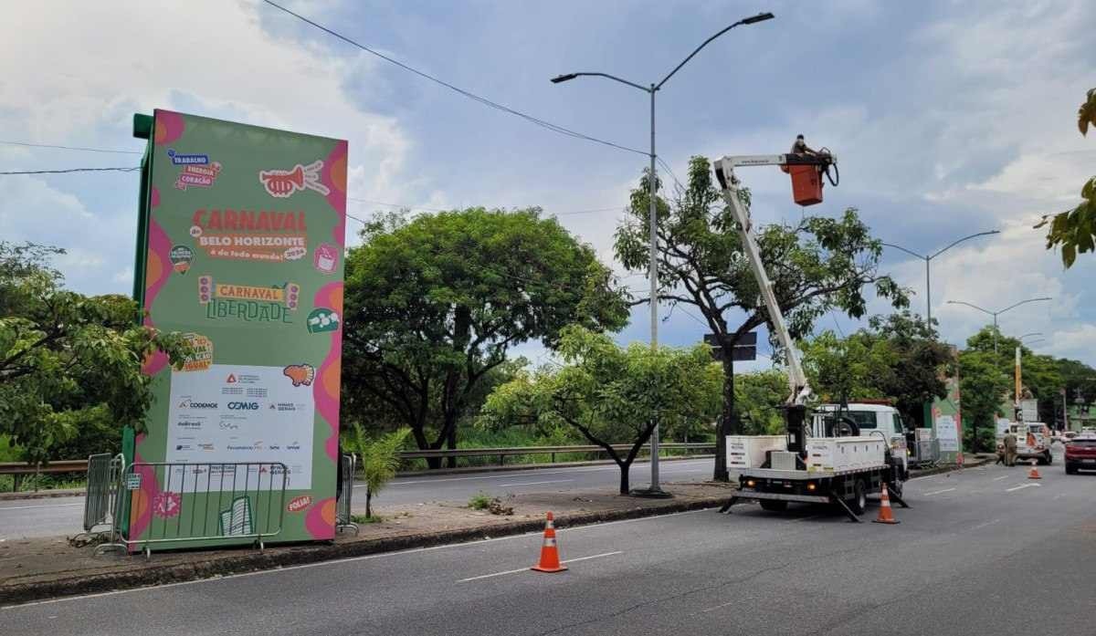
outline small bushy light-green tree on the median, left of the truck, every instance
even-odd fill
[[[626,348],[581,326],[562,332],[559,369],[541,368],[503,384],[488,397],[484,423],[507,426],[562,423],[605,449],[620,467],[620,494],[628,470],[657,424],[667,436],[689,421],[713,421],[719,413],[720,374],[708,347],[643,344]],[[621,454],[610,444],[629,443]]]

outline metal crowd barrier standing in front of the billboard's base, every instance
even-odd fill
[[[155,484],[153,495],[145,486]],[[282,532],[288,469],[282,462],[137,462],[123,483],[132,519],[147,524],[122,542],[148,556],[153,546],[220,539],[263,542]]]

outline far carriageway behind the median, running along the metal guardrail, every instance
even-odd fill
[[[675,460],[662,462],[664,481],[692,481],[711,474],[713,460]],[[420,501],[467,501],[483,492],[492,496],[506,493],[538,493],[615,486],[619,483],[616,465],[504,471],[480,474],[400,477],[376,499],[380,507]],[[650,465],[636,463],[630,478],[633,486],[650,482]],[[356,502],[364,510],[365,492]],[[357,506],[355,506],[357,508]],[[58,536],[80,532],[83,523],[83,497],[18,499],[0,501],[0,540],[27,536]]]

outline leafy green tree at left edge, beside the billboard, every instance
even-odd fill
[[[164,351],[181,365],[189,352],[182,335],[136,326],[128,298],[62,289],[47,264],[56,253],[0,243],[0,435],[31,462],[140,429],[151,403],[142,360]]]

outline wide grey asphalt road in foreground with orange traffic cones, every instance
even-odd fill
[[[1096,474],[911,481],[899,525],[703,510],[0,610],[0,634],[1094,633]],[[875,509],[869,511],[874,514]]]

